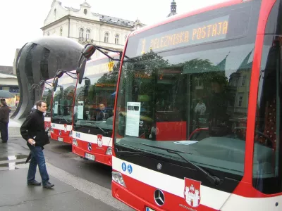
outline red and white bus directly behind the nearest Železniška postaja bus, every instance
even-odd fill
[[[118,53],[109,55],[119,58]],[[73,153],[109,166],[118,70],[107,56],[88,60],[73,112]]]

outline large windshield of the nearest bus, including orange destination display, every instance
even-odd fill
[[[259,4],[244,6],[128,39],[115,147],[183,162],[169,150],[177,151],[201,167],[243,177]]]

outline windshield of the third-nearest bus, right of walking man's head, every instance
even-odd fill
[[[58,79],[58,87],[53,94],[51,121],[59,124],[72,124],[75,80],[68,75]]]

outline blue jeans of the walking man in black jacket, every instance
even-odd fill
[[[35,180],[36,167],[38,165],[39,172],[42,179],[42,184],[47,184],[49,175],[46,169],[45,158],[40,146],[28,146],[31,151],[30,167],[27,173],[27,181]]]

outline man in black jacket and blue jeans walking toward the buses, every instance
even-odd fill
[[[49,143],[48,134],[44,130],[44,115],[47,110],[45,101],[37,101],[37,109],[30,113],[23,125],[20,127],[20,134],[27,141],[30,148],[31,160],[27,173],[27,185],[40,186],[41,182],[35,180],[36,167],[38,165],[44,188],[51,188],[54,184],[49,182],[49,175],[46,169],[43,146]]]

